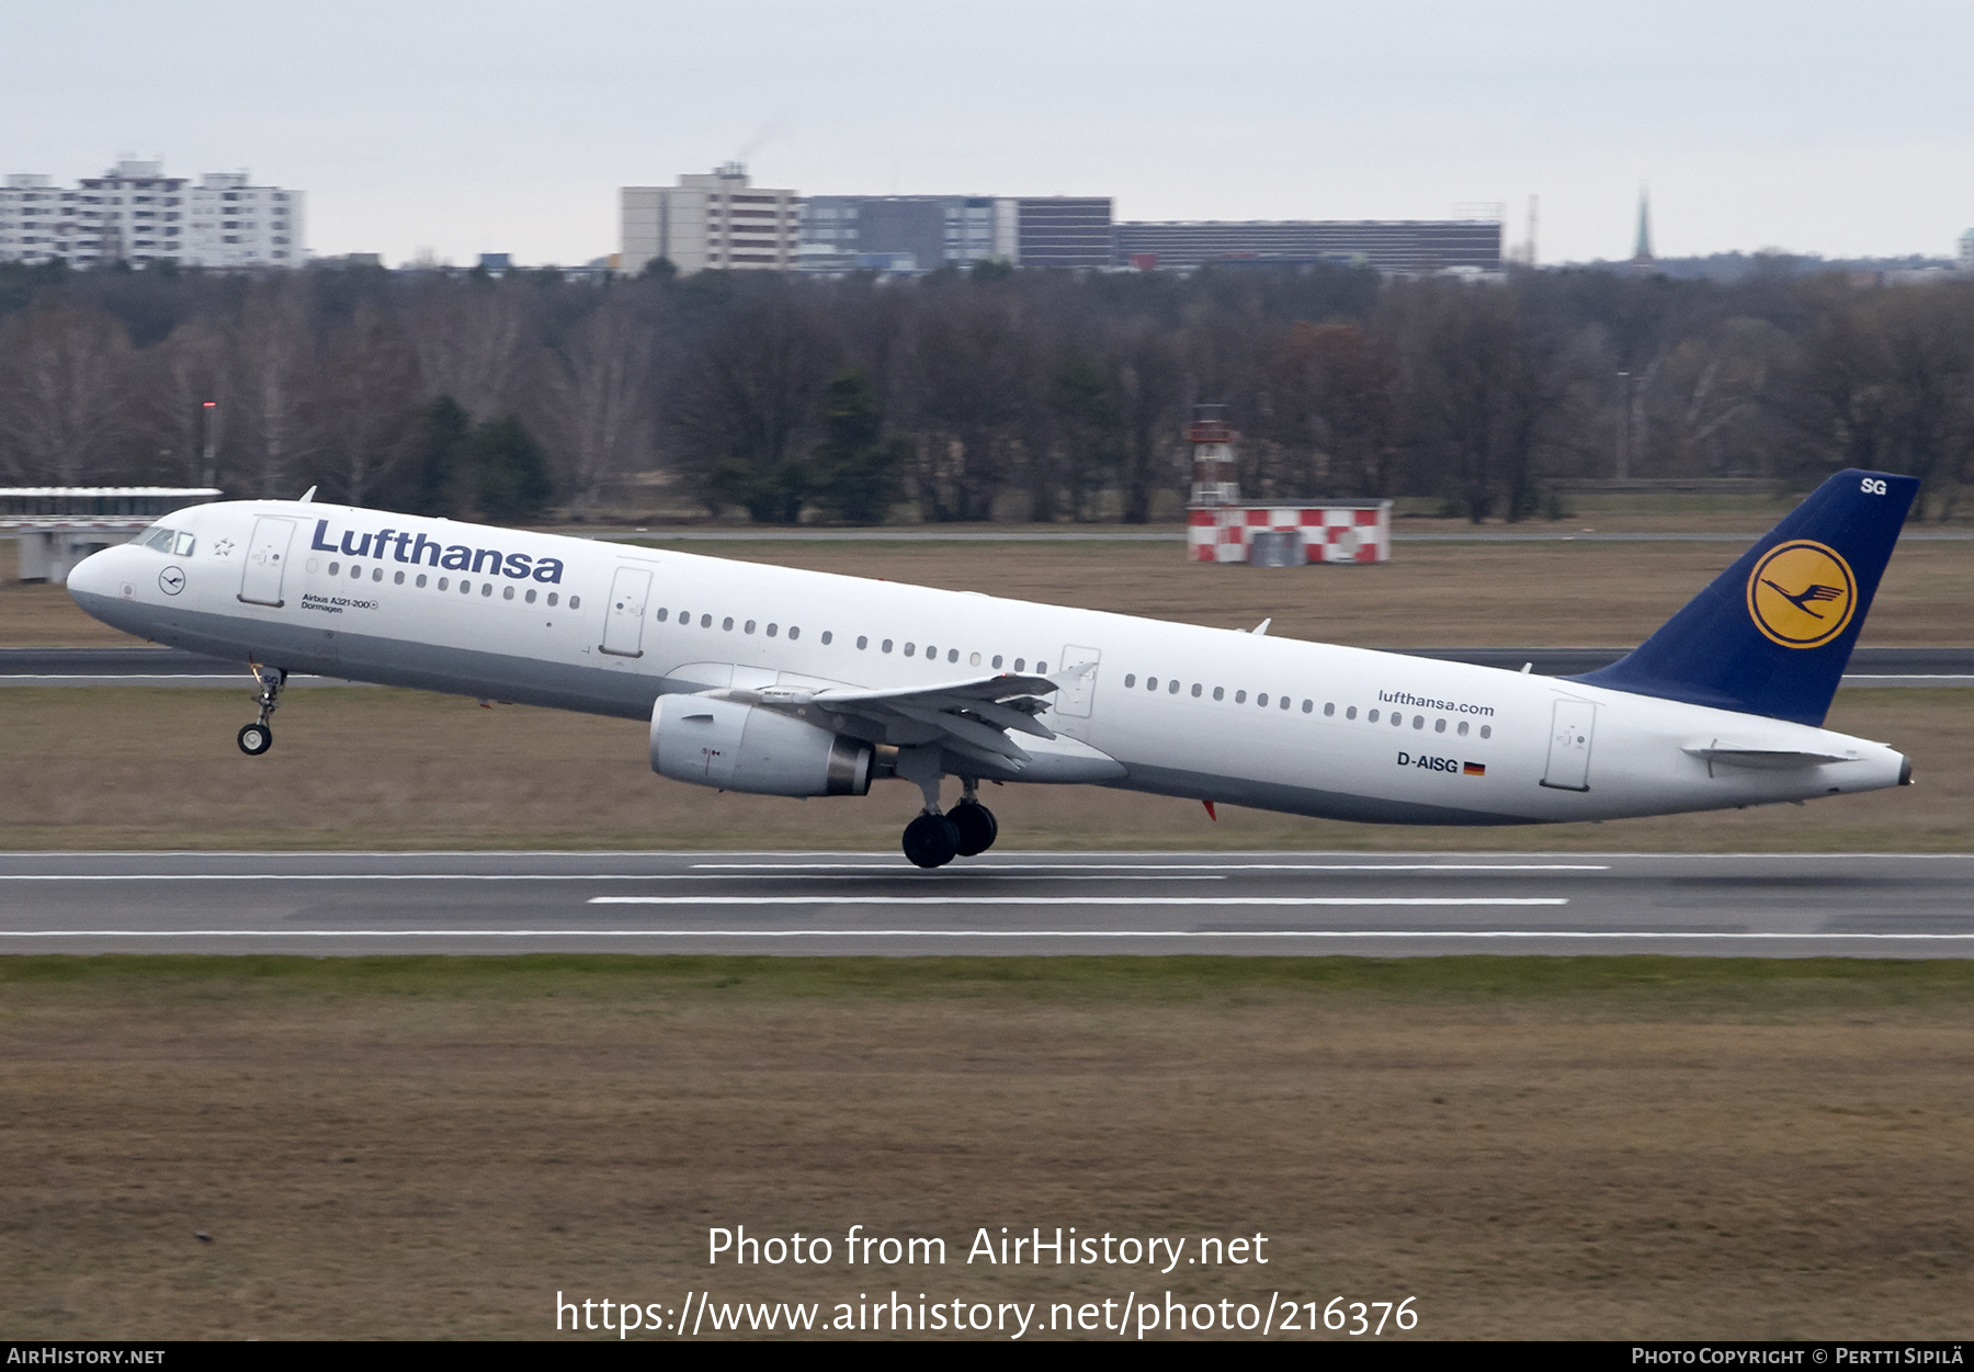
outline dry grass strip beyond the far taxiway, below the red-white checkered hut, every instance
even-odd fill
[[[1741,553],[1731,543],[1435,543],[1384,567],[1186,563],[1147,543],[689,543],[742,561],[884,576],[1362,648],[1636,644]],[[0,584],[0,648],[118,646],[61,586]],[[1974,551],[1899,549],[1865,646],[1974,644]]]

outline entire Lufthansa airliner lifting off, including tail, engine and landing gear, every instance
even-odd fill
[[[1903,754],[1822,723],[1917,488],[1832,476],[1638,649],[1579,677],[308,497],[182,509],[83,561],[69,592],[120,630],[251,667],[251,756],[292,671],[649,719],[653,770],[695,786],[916,784],[904,853],[940,867],[993,845],[983,780],[1429,825],[1905,786]],[[942,811],[948,776],[961,798]]]

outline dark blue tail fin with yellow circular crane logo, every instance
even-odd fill
[[[1631,655],[1571,681],[1822,724],[1917,492],[1838,472]]]

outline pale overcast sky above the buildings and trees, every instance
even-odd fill
[[[1467,217],[1544,261],[1950,255],[1968,0],[71,0],[8,6],[0,172],[308,191],[318,255],[580,263],[616,190],[1111,195],[1119,219]],[[1479,211],[1484,213],[1484,211]]]

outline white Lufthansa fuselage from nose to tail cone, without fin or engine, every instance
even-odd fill
[[[1542,823],[1865,792],[1905,766],[1877,742],[1554,677],[549,533],[296,501],[164,523],[190,553],[134,543],[77,567],[91,614],[243,663],[630,719],[667,693],[1054,673],[1042,721],[1068,742],[1030,748],[1023,780]],[[642,584],[622,569],[651,574],[642,614],[612,594]],[[1798,760],[1721,762],[1737,750]]]

